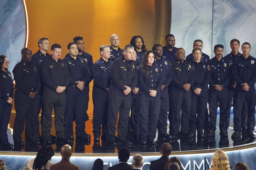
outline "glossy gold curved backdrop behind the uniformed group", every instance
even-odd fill
[[[164,45],[170,33],[170,0],[25,0],[28,13],[28,45],[38,51],[38,39],[47,37],[52,44],[62,47],[61,58],[67,54],[67,44],[73,37],[84,38],[85,51],[95,62],[100,57],[99,47],[110,44],[112,33],[120,37],[122,49],[131,37],[141,35],[147,49],[155,43]],[[50,53],[50,51],[48,51]],[[92,85],[88,115],[92,116]],[[14,108],[13,108],[14,109]]]

